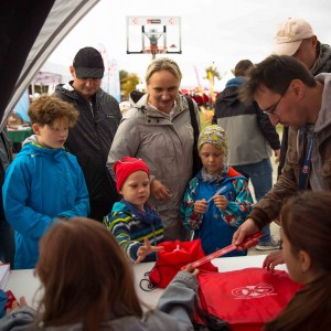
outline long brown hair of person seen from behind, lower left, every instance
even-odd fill
[[[53,225],[41,239],[36,274],[45,327],[82,322],[82,330],[98,330],[104,320],[142,317],[131,266],[96,221],[74,217]]]

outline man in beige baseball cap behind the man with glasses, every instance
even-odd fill
[[[274,53],[288,55],[301,61],[316,76],[331,73],[331,47],[322,44],[311,25],[302,19],[287,19],[277,28]],[[278,177],[285,164],[288,147],[288,127],[284,127],[278,164]]]

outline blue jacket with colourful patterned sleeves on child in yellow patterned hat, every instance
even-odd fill
[[[220,210],[211,200],[204,214],[195,214],[195,201],[209,201],[221,188],[221,195],[225,195],[228,201],[226,209]],[[197,172],[188,184],[181,206],[181,218],[186,228],[194,229],[193,238],[201,238],[202,248],[207,255],[231,245],[233,234],[243,224],[252,206],[247,180],[233,168],[228,169],[227,178],[220,183],[205,183],[201,172]],[[224,257],[242,255],[247,255],[247,250],[233,250]]]

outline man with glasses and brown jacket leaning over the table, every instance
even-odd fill
[[[236,245],[278,218],[282,202],[291,195],[331,190],[331,74],[313,77],[296,58],[271,55],[249,73],[241,98],[255,99],[274,125],[289,126],[289,138],[282,173],[234,234]],[[265,266],[274,268],[281,261],[266,260]]]

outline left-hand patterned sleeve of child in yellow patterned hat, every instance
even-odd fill
[[[181,220],[183,225],[188,229],[196,229],[200,227],[203,215],[194,213],[194,203],[196,201],[196,186],[199,185],[199,180],[196,178],[192,179],[185,190],[184,199],[181,203]]]

